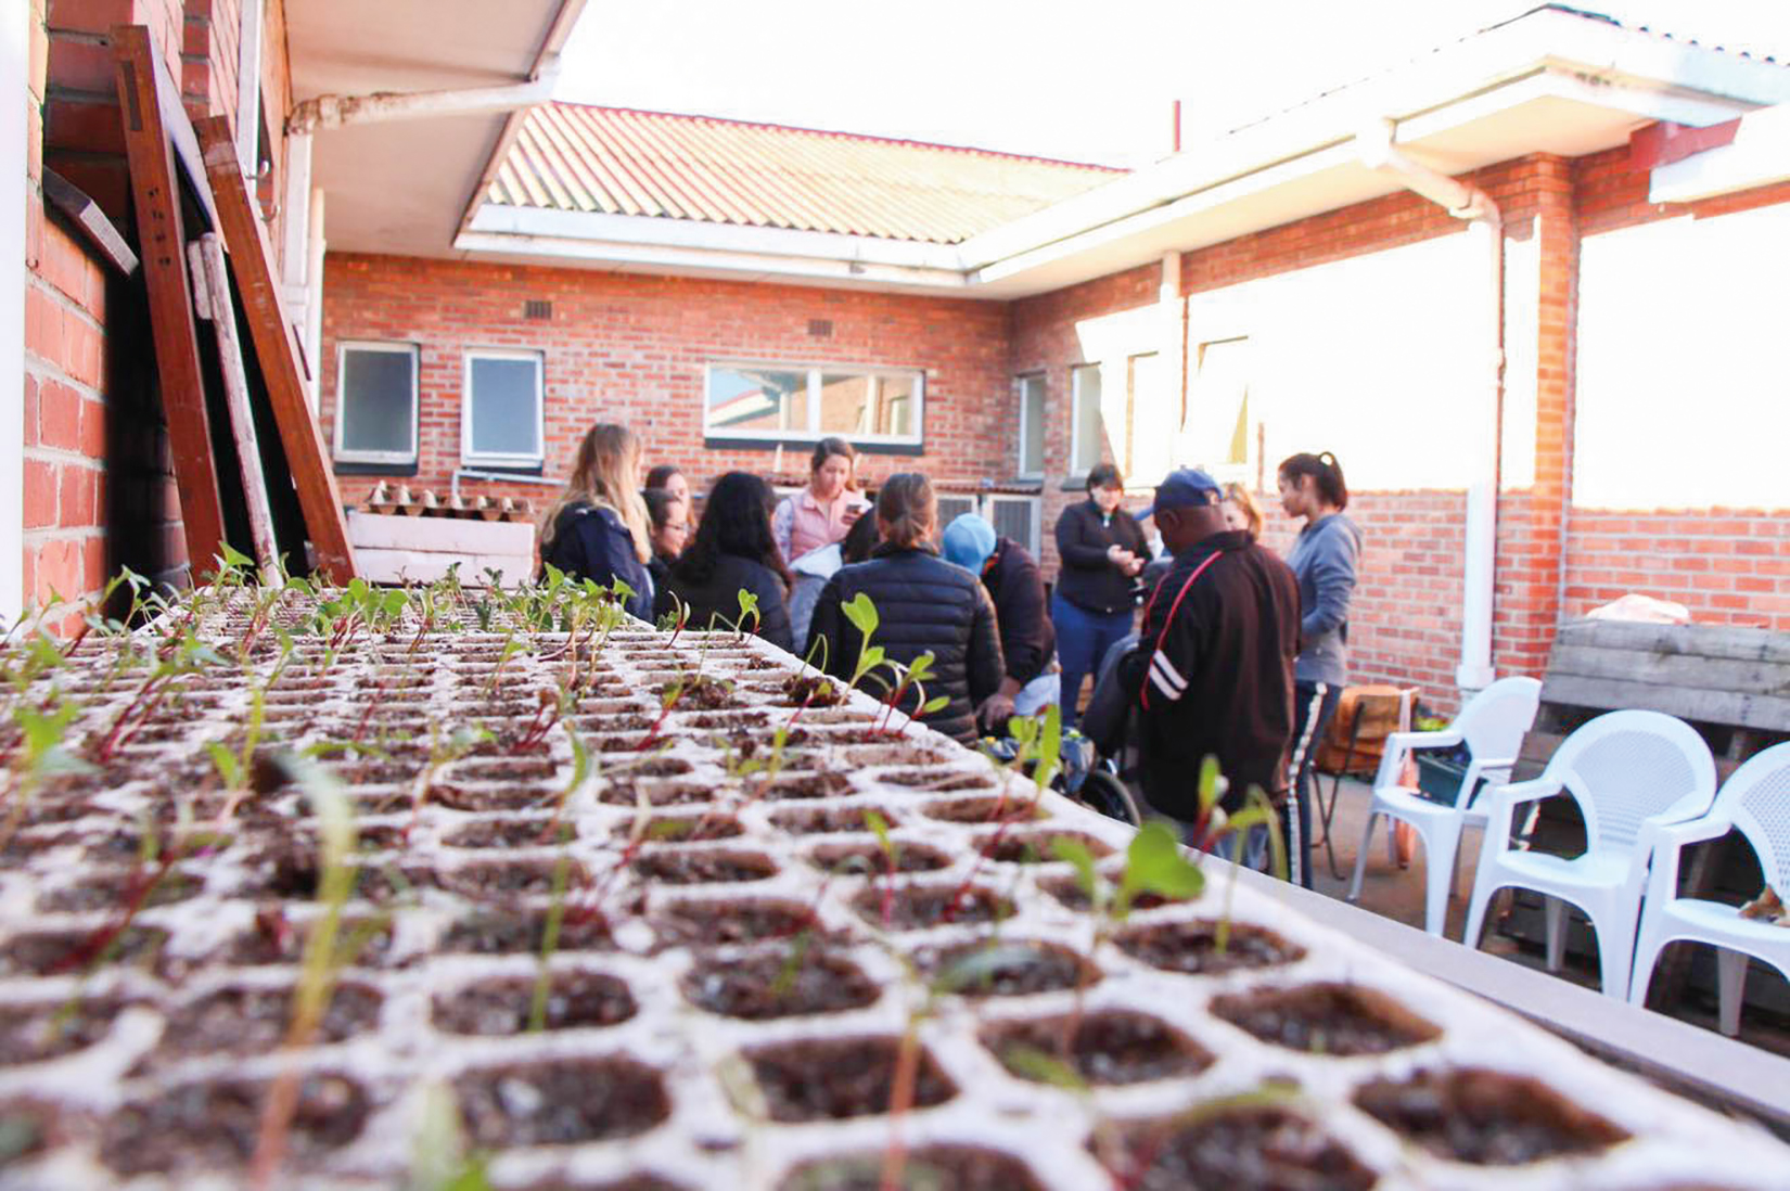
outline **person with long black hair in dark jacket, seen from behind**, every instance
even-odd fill
[[[689,605],[689,627],[707,629],[739,618],[739,593],[759,598],[755,632],[780,650],[789,639],[789,571],[771,537],[771,485],[745,471],[729,471],[709,489],[696,541],[671,564],[666,591],[653,611],[675,611],[671,596]]]

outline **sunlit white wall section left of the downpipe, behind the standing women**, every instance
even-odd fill
[[[1335,451],[1351,489],[1461,491],[1493,433],[1487,287],[1484,245],[1446,235],[1194,294],[1189,369],[1199,344],[1249,337],[1267,487],[1287,455]]]

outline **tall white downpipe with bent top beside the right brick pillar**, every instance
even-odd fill
[[[1461,664],[1455,684],[1462,691],[1491,684],[1491,614],[1498,562],[1498,414],[1504,403],[1504,217],[1484,190],[1455,181],[1439,170],[1412,161],[1396,147],[1398,125],[1378,120],[1357,138],[1362,165],[1396,174],[1403,184],[1448,210],[1455,218],[1471,220],[1470,235],[1486,245],[1486,387],[1466,424],[1479,424],[1486,446],[1470,455],[1466,487],[1466,525],[1461,566]]]

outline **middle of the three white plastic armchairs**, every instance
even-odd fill
[[[1511,810],[1563,792],[1584,815],[1584,854],[1563,860],[1513,851]],[[1561,741],[1541,777],[1495,786],[1480,795],[1486,840],[1473,878],[1464,942],[1479,946],[1486,904],[1495,892],[1532,888],[1548,899],[1548,971],[1561,967],[1566,903],[1572,903],[1591,919],[1597,933],[1604,994],[1625,998],[1654,833],[1661,826],[1697,818],[1713,799],[1715,758],[1688,724],[1658,711],[1597,716]]]

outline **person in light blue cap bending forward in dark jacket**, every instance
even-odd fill
[[[983,700],[977,718],[995,727],[1056,702],[1056,629],[1045,614],[1038,561],[1011,537],[995,534],[986,518],[965,512],[945,527],[943,553],[983,580],[1001,625],[1006,675]]]

